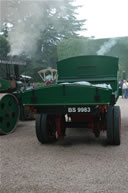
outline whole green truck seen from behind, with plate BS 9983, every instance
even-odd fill
[[[66,128],[90,128],[96,137],[106,131],[108,143],[120,145],[121,115],[118,58],[78,56],[57,63],[57,84],[20,94],[24,106],[36,112],[36,136],[50,143]]]

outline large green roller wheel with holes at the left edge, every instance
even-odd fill
[[[17,98],[12,94],[0,94],[0,134],[13,132],[18,118]]]

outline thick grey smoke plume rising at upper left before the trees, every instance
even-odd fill
[[[20,13],[15,12],[13,18],[14,29],[9,32],[11,45],[10,55],[22,53],[33,54],[36,51],[37,41],[40,37],[42,26],[42,9],[40,2],[19,3]]]

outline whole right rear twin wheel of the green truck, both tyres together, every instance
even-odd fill
[[[107,112],[107,139],[110,145],[120,145],[121,115],[119,106],[109,106]]]

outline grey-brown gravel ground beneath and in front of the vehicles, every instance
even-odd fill
[[[64,141],[41,145],[35,121],[0,136],[0,193],[128,193],[128,100],[119,99],[122,144],[70,129]]]

